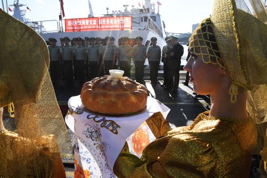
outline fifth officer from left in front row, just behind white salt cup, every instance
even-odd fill
[[[113,66],[115,65],[117,48],[112,45],[111,41],[114,40],[111,37],[107,36],[105,37],[105,40],[107,45],[103,47],[101,53],[103,55],[105,75],[109,75],[109,70],[113,69]]]

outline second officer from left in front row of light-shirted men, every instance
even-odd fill
[[[73,57],[73,47],[69,45],[70,39],[65,36],[64,37],[65,46],[62,47],[62,63],[64,67],[64,78],[67,84],[71,84],[73,81],[73,69],[72,63],[74,60]]]

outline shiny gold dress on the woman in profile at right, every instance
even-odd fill
[[[249,117],[232,119],[208,114],[200,113],[190,126],[172,130],[160,113],[153,115],[147,122],[157,139],[145,148],[141,159],[125,146],[114,166],[116,176],[247,177],[256,144],[254,123]]]

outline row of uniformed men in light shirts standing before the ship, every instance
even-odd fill
[[[85,37],[85,47],[83,46],[83,39],[80,37],[72,39],[73,46],[69,45],[71,40],[68,37],[61,38],[60,40],[61,47],[57,47],[57,40],[49,38],[50,72],[54,84],[59,79],[60,71],[64,71],[62,76],[67,83],[72,82],[73,69],[74,78],[78,78],[81,83],[85,81],[85,76],[89,80],[102,76],[104,73],[109,75],[109,70],[116,67],[117,60],[120,69],[124,70],[124,76],[130,77],[131,59],[133,59],[135,65],[136,81],[142,83],[144,63],[147,55],[150,62],[151,82],[156,82],[161,49],[159,46],[156,46],[157,38],[155,37],[151,38],[152,46],[149,48],[148,54],[146,53],[146,47],[142,45],[143,38],[140,36],[136,37],[137,45],[133,48],[128,44],[128,37],[121,37],[122,45],[119,47],[114,45],[114,37],[105,38],[106,46],[101,44],[102,39],[100,37]],[[91,45],[89,45],[89,42]],[[60,67],[61,64],[63,64],[62,69]]]

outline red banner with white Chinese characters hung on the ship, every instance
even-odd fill
[[[131,16],[73,18],[65,20],[66,32],[132,30]]]

